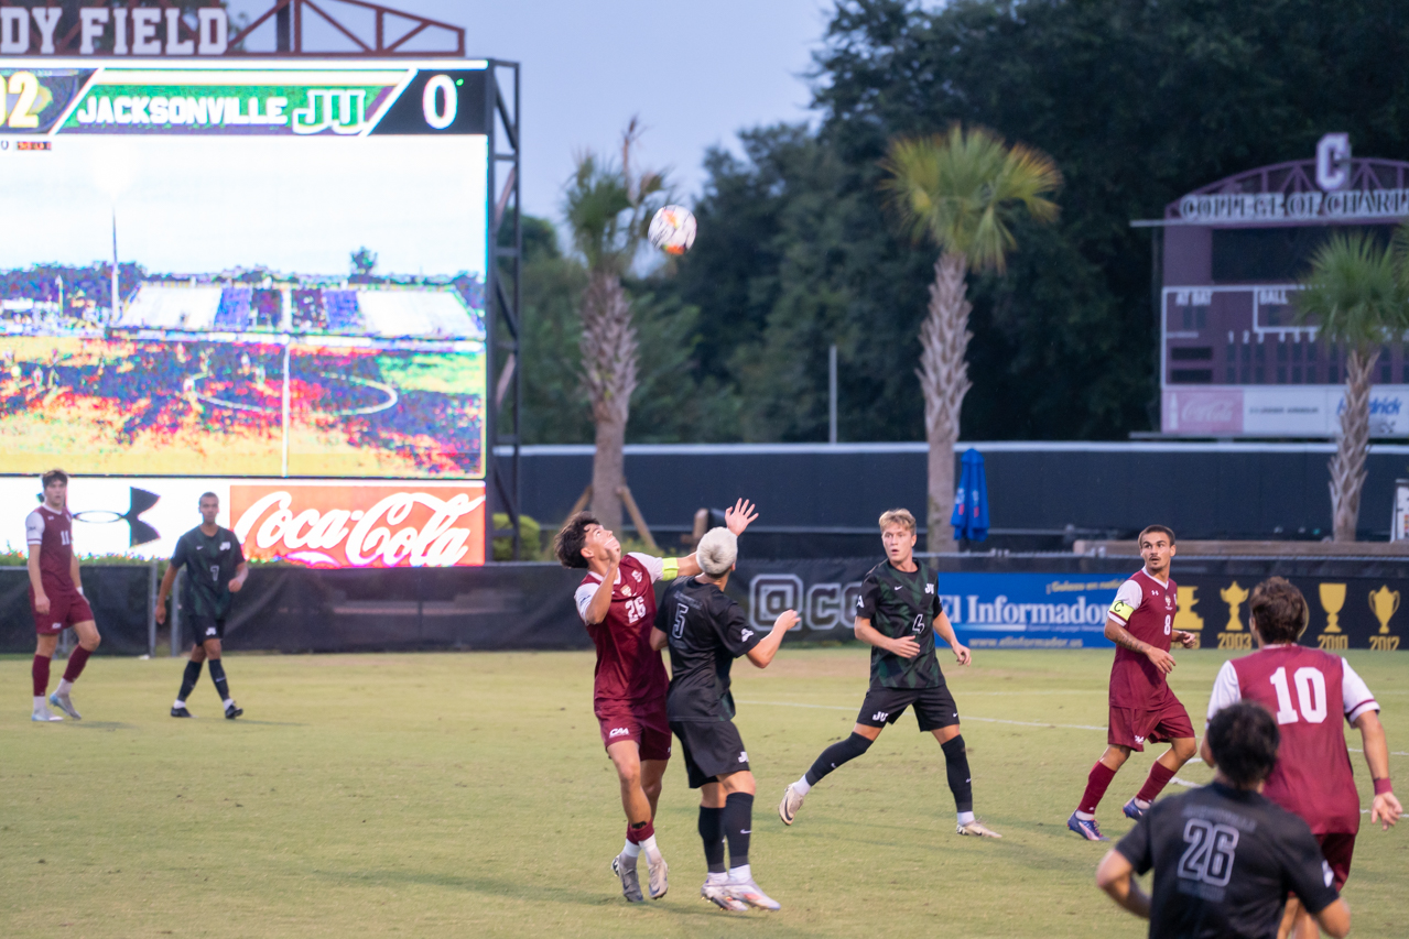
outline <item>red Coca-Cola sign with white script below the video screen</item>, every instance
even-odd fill
[[[230,518],[247,557],[313,567],[485,563],[483,483],[232,483]]]

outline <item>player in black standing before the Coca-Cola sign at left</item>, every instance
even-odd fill
[[[234,721],[244,714],[244,710],[230,697],[230,684],[225,681],[225,666],[220,660],[220,641],[225,638],[225,615],[234,594],[245,586],[249,566],[245,563],[245,552],[240,548],[235,532],[216,524],[220,514],[220,497],[206,493],[200,497],[200,525],[176,541],[176,550],[172,553],[172,563],[162,577],[162,587],[156,597],[156,622],[166,621],[166,597],[170,595],[176,573],[186,567],[186,586],[190,597],[190,625],[194,634],[194,645],[190,650],[190,662],[186,663],[186,674],[182,677],[180,693],[172,704],[173,718],[193,717],[186,710],[186,697],[196,688],[200,680],[200,663],[210,660],[210,679],[216,683],[216,691],[225,707],[225,717]]]

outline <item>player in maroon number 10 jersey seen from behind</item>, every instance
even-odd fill
[[[1370,821],[1388,831],[1403,812],[1389,783],[1389,743],[1379,705],[1343,657],[1298,645],[1310,618],[1301,590],[1271,577],[1253,588],[1248,610],[1258,650],[1223,663],[1213,681],[1209,719],[1239,701],[1255,701],[1277,717],[1282,746],[1262,795],[1310,825],[1340,890],[1350,876],[1360,831],[1360,791],[1337,711],[1360,731],[1375,787]],[[1213,766],[1208,742],[1202,756]],[[1279,935],[1285,938],[1293,926],[1296,936],[1320,935],[1295,898],[1286,902]]]

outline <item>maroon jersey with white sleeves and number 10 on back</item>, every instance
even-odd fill
[[[1360,831],[1360,793],[1346,750],[1346,721],[1378,711],[1364,680],[1340,656],[1298,645],[1268,646],[1223,663],[1209,719],[1237,701],[1277,717],[1282,745],[1262,795],[1301,815],[1312,832]]]

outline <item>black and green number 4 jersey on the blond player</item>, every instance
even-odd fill
[[[861,581],[857,617],[888,639],[910,636],[920,655],[902,659],[883,649],[871,649],[872,688],[936,688],[944,684],[940,660],[934,657],[934,618],[943,611],[934,588],[934,574],[924,562],[906,573],[882,560]]]

